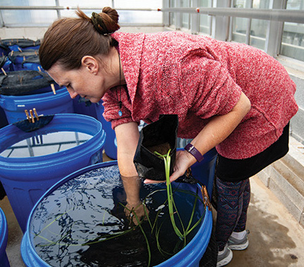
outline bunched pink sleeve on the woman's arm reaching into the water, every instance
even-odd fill
[[[122,116],[119,112],[119,101],[122,101]],[[103,117],[106,121],[111,122],[111,126],[114,129],[116,126],[128,122],[133,122],[131,115],[131,103],[129,101],[129,95],[125,86],[117,86],[110,89],[102,98],[103,100]]]

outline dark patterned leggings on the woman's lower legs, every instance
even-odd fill
[[[240,182],[224,182],[216,177],[217,222],[215,237],[219,251],[224,249],[232,232],[246,229],[251,189],[249,178]]]

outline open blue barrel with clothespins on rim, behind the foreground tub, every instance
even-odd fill
[[[72,148],[37,157],[0,156],[0,181],[23,232],[32,207],[51,185],[78,169],[102,162],[106,133],[96,119],[75,114],[56,114],[49,124],[30,132],[15,124],[0,129],[0,153],[19,141],[61,131],[86,133],[89,139]]]

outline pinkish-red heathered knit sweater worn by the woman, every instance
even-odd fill
[[[289,74],[257,48],[183,32],[112,37],[119,42],[127,82],[127,89],[110,89],[103,97],[103,115],[113,128],[177,114],[178,136],[194,138],[211,117],[232,110],[243,91],[251,110],[216,147],[224,157],[243,159],[277,141],[298,110]]]

